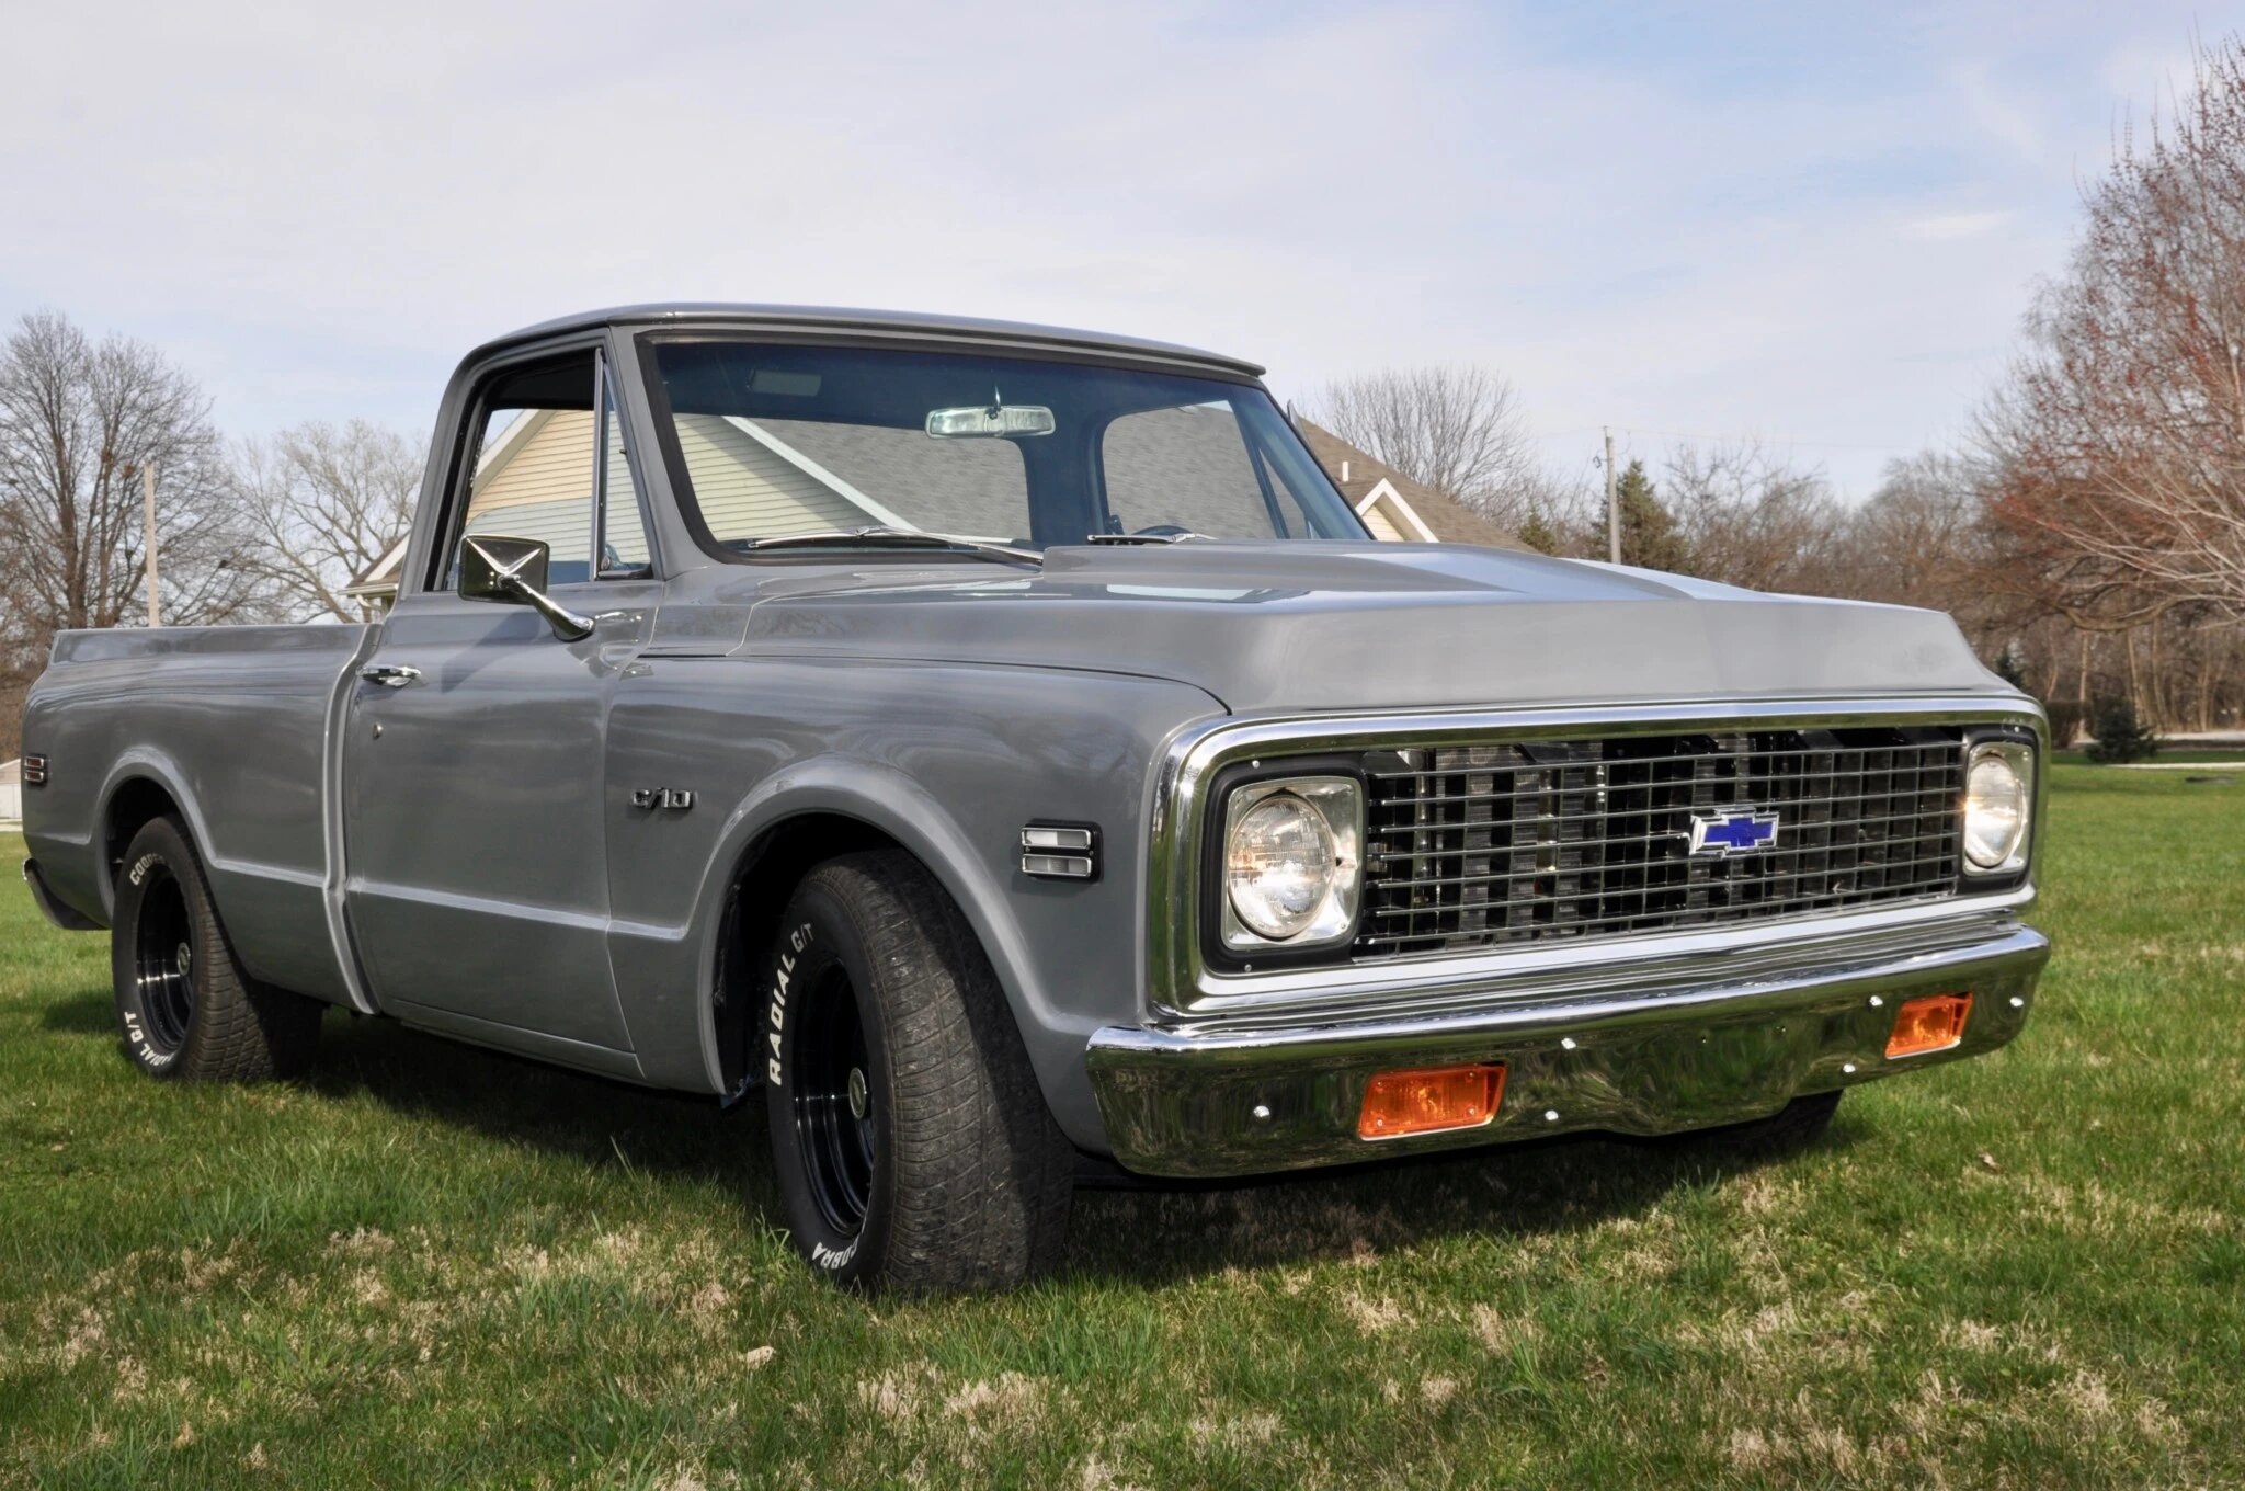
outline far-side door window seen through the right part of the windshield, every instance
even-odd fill
[[[1100,440],[1116,532],[1176,525],[1210,539],[1282,534],[1259,467],[1226,402],[1127,413]]]

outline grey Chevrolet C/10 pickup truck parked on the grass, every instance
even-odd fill
[[[2023,1028],[2047,730],[1949,618],[1372,541],[1259,375],[501,337],[382,620],[56,640],[25,876],[155,1078],[287,1076],[341,1006],[761,1089],[867,1287],[1026,1278],[1082,1174],[1798,1141]]]

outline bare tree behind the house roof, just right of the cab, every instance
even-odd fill
[[[1412,481],[1518,528],[1536,476],[1520,400],[1491,368],[1390,368],[1313,402],[1318,424]]]

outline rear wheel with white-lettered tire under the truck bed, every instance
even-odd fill
[[[117,878],[110,977],[126,1055],[153,1078],[249,1082],[296,1076],[323,1006],[256,984],[236,961],[202,862],[168,817],[132,835]]]

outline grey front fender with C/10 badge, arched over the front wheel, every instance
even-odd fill
[[[1176,728],[1212,712],[1199,689],[1147,678],[658,662],[626,685],[608,728],[611,957],[642,1071],[725,1091],[712,993],[727,898],[768,835],[833,815],[934,873],[990,957],[1055,1118],[1102,1147],[1084,1051],[1093,1031],[1143,1008],[1154,761]],[[631,811],[633,786],[691,790],[696,806]],[[1024,876],[1033,820],[1100,824],[1100,878]]]

